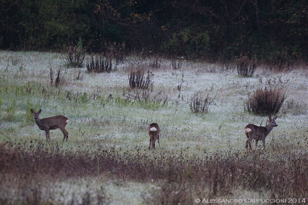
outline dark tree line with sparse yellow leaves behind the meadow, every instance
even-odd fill
[[[1,0],[2,49],[61,50],[82,41],[186,57],[306,59],[306,0]]]

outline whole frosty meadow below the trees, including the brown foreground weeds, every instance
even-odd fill
[[[153,74],[148,89],[129,87],[136,67]],[[0,204],[308,202],[302,64],[285,72],[259,65],[253,77],[240,77],[233,64],[130,56],[97,74],[86,63],[67,67],[59,53],[1,51],[0,70]],[[259,142],[247,153],[245,125],[265,126],[268,116],[249,113],[244,101],[264,86],[283,90],[286,100],[266,150]],[[199,91],[211,99],[207,113],[190,110]],[[42,109],[40,118],[67,116],[68,142],[56,129],[48,143],[31,108]],[[156,142],[148,150],[152,122],[161,149]]]

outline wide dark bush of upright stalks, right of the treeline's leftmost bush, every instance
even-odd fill
[[[112,63],[111,63],[111,58],[106,56],[105,60],[102,55],[95,55],[94,59],[94,54],[92,53],[90,57],[90,63],[89,59],[87,60],[87,71],[88,73],[90,72],[95,72],[95,73],[103,73],[103,72],[111,72],[112,70]]]

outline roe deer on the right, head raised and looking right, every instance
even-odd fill
[[[263,143],[263,147],[265,149],[265,138],[266,136],[270,133],[270,131],[272,131],[273,127],[277,127],[278,124],[276,124],[276,120],[277,116],[275,116],[273,119],[271,118],[271,116],[269,117],[268,120],[268,124],[266,125],[266,127],[263,126],[257,126],[254,124],[247,124],[246,127],[244,128],[244,132],[247,136],[247,141],[246,141],[246,150],[248,151],[248,144],[251,149],[251,140],[256,140],[256,146],[254,148],[254,150],[256,150],[257,148],[257,144],[259,140],[262,140]]]

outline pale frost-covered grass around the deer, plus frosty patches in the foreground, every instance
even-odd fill
[[[74,74],[78,69],[66,68],[59,53],[1,51],[0,143],[10,142],[16,147],[22,144],[25,149],[35,147],[37,142],[46,144],[45,148],[60,144],[59,152],[63,153],[81,150],[97,153],[100,152],[98,145],[103,144],[119,153],[136,153],[138,150],[146,156],[149,153],[183,155],[184,160],[188,161],[205,159],[208,156],[205,152],[236,150],[245,155],[245,125],[265,126],[267,117],[248,113],[244,109],[244,100],[257,88],[274,85],[285,90],[286,101],[278,113],[278,127],[265,141],[268,149],[262,153],[275,160],[276,153],[283,154],[276,147],[278,143],[287,144],[296,152],[306,152],[302,149],[305,146],[299,144],[306,143],[308,135],[307,69],[294,68],[286,73],[273,73],[266,67],[259,67],[253,77],[239,77],[235,69],[223,70],[219,64],[182,61],[181,68],[174,70],[170,61],[162,59],[159,68],[148,66],[148,69],[154,74],[152,93],[161,98],[167,96],[167,104],[144,105],[132,99],[126,100],[128,93],[138,91],[142,94],[142,90],[129,89],[128,65],[132,61],[148,62],[128,57],[115,71],[99,74],[87,73],[84,66],[81,68],[84,78],[75,81]],[[63,68],[62,81],[58,87],[51,86],[50,68],[57,70],[60,66]],[[198,91],[214,98],[209,113],[190,112],[190,97]],[[62,132],[57,129],[50,132],[51,143],[47,144],[45,133],[35,124],[30,108],[35,111],[42,109],[41,118],[60,114],[67,116],[70,120],[66,126],[68,142],[62,142]],[[161,150],[156,146],[154,152],[148,151],[147,130],[152,122],[160,126],[162,146]],[[261,144],[258,144],[258,150],[263,150]],[[78,195],[74,203],[80,204],[83,200],[80,196],[86,192],[95,195],[100,186],[111,204],[149,203],[144,201],[147,196],[141,195],[144,190],[152,189],[152,181],[140,183],[126,181],[125,176],[122,179],[109,175],[100,177],[104,180],[93,176],[50,181],[58,187],[52,189],[55,203],[72,201],[62,196],[61,188],[70,197],[73,193]],[[118,183],[119,180],[121,183]],[[155,185],[159,186],[160,182]],[[241,189],[244,188],[235,189],[233,196],[242,197],[240,193],[251,193],[271,197],[266,190],[256,193],[250,190],[241,192]],[[0,193],[2,190],[3,187]],[[15,195],[20,196],[18,193]]]

